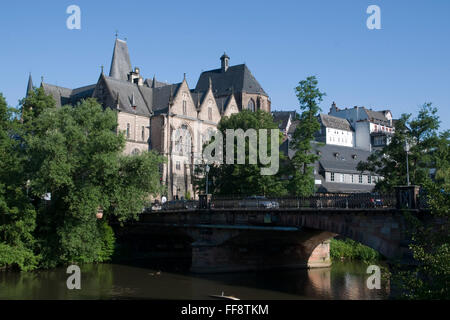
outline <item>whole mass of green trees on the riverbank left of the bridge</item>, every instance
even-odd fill
[[[124,156],[116,113],[93,99],[55,108],[39,88],[21,111],[18,121],[0,95],[0,268],[109,260],[108,222],[136,219],[162,191],[163,158]]]

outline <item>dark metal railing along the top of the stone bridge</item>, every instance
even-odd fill
[[[395,208],[395,194],[317,194],[310,197],[213,197],[214,209]]]

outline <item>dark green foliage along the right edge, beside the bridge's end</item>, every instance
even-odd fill
[[[368,170],[384,176],[377,189],[390,192],[397,185],[405,185],[405,141],[410,144],[409,169],[411,184],[423,188],[424,200],[430,212],[425,220],[405,213],[412,230],[410,246],[417,266],[404,270],[397,268],[393,283],[407,299],[450,298],[450,131],[438,133],[437,108],[424,104],[416,118],[402,115],[396,124],[391,143],[380,152],[360,163],[359,170]],[[434,179],[430,172],[434,171]],[[438,220],[435,220],[438,219]]]

